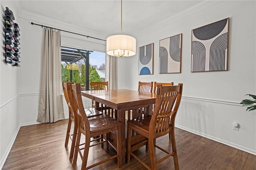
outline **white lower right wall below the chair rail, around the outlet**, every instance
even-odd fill
[[[175,126],[256,155],[255,120],[255,112],[246,112],[239,102],[182,97]]]

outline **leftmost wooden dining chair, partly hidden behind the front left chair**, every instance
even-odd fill
[[[68,119],[68,128],[66,132],[66,139],[65,139],[65,146],[68,146],[68,140],[69,138],[72,140],[71,148],[70,148],[70,156],[69,159],[73,158],[74,155],[74,148],[75,148],[75,143],[76,143],[76,134],[77,134],[77,129],[78,129],[78,123],[75,122],[75,117],[74,117],[74,112],[70,104],[70,98],[71,96],[71,85],[72,82],[62,82],[62,87],[63,87],[63,93],[64,97],[66,99],[67,105],[68,105],[68,113],[69,113],[69,119]],[[94,117],[94,116],[99,116],[103,115],[102,112],[96,110],[95,108],[88,108],[85,109],[86,115],[88,118]],[[70,133],[71,125],[72,122],[74,123],[74,130],[73,133]]]

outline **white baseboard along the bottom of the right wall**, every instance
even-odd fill
[[[235,144],[235,143],[232,143],[232,142],[229,142],[229,141],[226,141],[226,140],[217,138],[217,137],[215,137],[215,136],[211,136],[211,135],[208,135],[208,134],[205,134],[205,133],[202,133],[202,132],[198,132],[198,131],[196,131],[196,130],[192,130],[192,129],[190,129],[190,128],[183,127],[183,126],[180,126],[180,125],[175,125],[175,127],[180,128],[180,129],[182,129],[182,130],[186,130],[186,131],[191,132],[191,133],[194,133],[194,134],[197,134],[197,135],[199,135],[199,136],[202,136],[202,137],[205,137],[205,138],[214,140],[214,141],[216,141],[216,142],[219,142],[219,143],[222,143],[222,144],[231,146],[231,147],[233,147],[233,148],[242,150],[242,151],[244,151],[244,152],[248,152],[248,153],[250,153],[250,154],[256,155],[256,150],[253,150],[253,149],[250,149],[250,148],[246,148],[246,147],[241,146],[241,145],[239,145],[239,144]]]

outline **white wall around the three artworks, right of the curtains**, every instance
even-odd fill
[[[118,88],[136,90],[138,81],[183,83],[176,127],[256,155],[256,111],[239,104],[256,94],[255,1],[208,1],[150,28],[137,49],[154,43],[154,75],[138,75],[138,53],[118,59]],[[191,73],[191,30],[230,18],[228,71]],[[182,73],[159,74],[159,40],[182,33]],[[125,78],[124,78],[125,77]],[[240,124],[239,131],[232,123]]]

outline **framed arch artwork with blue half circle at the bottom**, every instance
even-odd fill
[[[139,75],[153,74],[154,43],[139,47]]]

